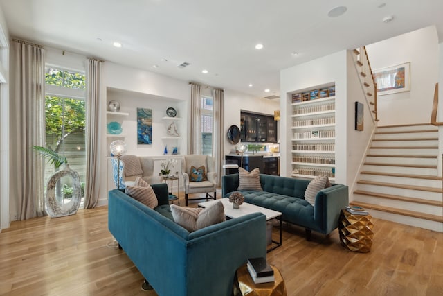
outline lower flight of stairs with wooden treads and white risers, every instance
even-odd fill
[[[350,204],[377,218],[443,232],[438,130],[429,124],[378,127]]]

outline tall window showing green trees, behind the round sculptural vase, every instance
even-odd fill
[[[82,182],[86,180],[85,153],[85,77],[84,73],[46,67],[45,125],[46,147],[64,155],[69,166],[77,171]],[[45,167],[45,184],[54,168]],[[72,186],[63,184],[57,198],[69,202]]]

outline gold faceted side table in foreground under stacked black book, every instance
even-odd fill
[[[287,296],[286,286],[280,271],[271,265],[274,270],[275,281],[262,284],[254,284],[249,275],[246,264],[237,269],[237,275],[234,280],[234,296]]]

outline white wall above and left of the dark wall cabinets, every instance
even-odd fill
[[[269,100],[267,98],[257,98],[230,89],[224,91],[224,134],[228,132],[230,125],[237,125],[240,128],[240,111],[252,111],[273,116],[275,110],[280,110],[279,99]],[[277,126],[279,126],[278,121]],[[280,130],[277,132],[280,138]],[[229,154],[235,145],[229,143],[228,137],[224,137],[224,154]]]

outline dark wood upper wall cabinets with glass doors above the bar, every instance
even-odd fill
[[[273,116],[241,112],[240,139],[244,142],[276,142],[277,122]]]

